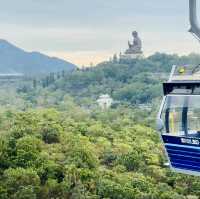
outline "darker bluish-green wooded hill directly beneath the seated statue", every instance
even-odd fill
[[[51,73],[18,91],[32,104],[41,106],[62,101],[65,95],[72,96],[80,105],[90,106],[100,94],[109,94],[123,104],[146,104],[161,96],[161,83],[167,80],[172,65],[199,63],[200,56],[196,54],[179,57],[156,53],[142,60],[103,62],[70,74]]]

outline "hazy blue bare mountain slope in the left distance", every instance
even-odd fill
[[[49,57],[39,52],[26,52],[0,39],[0,73],[44,74],[71,71],[76,66],[70,62]]]

